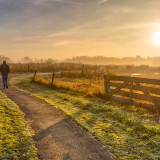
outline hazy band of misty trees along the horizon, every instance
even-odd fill
[[[0,55],[0,61],[6,60],[8,63],[80,63],[91,65],[149,65],[160,66],[160,57],[148,57],[143,58],[141,56],[136,57],[104,57],[104,56],[74,56],[70,59],[52,59],[52,58],[35,58],[32,59],[29,56],[23,57],[19,61],[13,61],[9,57]]]

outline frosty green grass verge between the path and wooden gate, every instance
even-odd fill
[[[158,113],[120,105],[80,93],[50,89],[31,83],[31,77],[11,79],[11,84],[59,108],[100,140],[119,160],[159,160]]]

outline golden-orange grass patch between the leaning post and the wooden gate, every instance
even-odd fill
[[[35,82],[45,84],[51,87],[52,75],[42,74],[36,75]],[[85,96],[104,97],[104,82],[103,80],[90,80],[85,78],[55,78],[52,84],[53,88],[65,89],[75,92],[81,92]]]

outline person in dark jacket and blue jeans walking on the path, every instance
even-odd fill
[[[8,88],[8,73],[10,72],[10,68],[7,65],[6,61],[3,61],[3,64],[0,66],[0,71],[2,73],[2,80],[3,80],[3,86],[4,89]]]

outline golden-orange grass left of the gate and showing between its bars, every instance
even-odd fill
[[[55,78],[52,83],[52,74],[50,73],[46,73],[46,74],[37,74],[33,81],[42,85],[46,85],[50,88],[53,89],[65,89],[65,90],[70,90],[70,91],[75,91],[75,92],[81,92],[84,94],[84,96],[88,96],[88,97],[100,97],[100,98],[105,98],[105,92],[104,92],[104,80],[103,79],[87,79],[85,77],[83,78],[77,78],[75,75],[70,76],[70,72],[66,72],[65,73],[66,76],[61,76],[61,75],[56,75],[55,74]],[[75,74],[75,73],[74,73]],[[149,76],[149,75],[148,75]],[[157,75],[156,75],[157,76]],[[143,77],[143,76],[142,76]],[[156,78],[153,77],[152,78]],[[112,82],[116,82],[117,81],[112,81]],[[121,84],[121,82],[119,82],[119,84]],[[153,88],[159,88],[160,86],[158,85],[151,85],[151,84],[142,84],[142,86],[145,87],[153,87]],[[110,89],[115,89],[116,87],[114,86],[110,86]],[[134,88],[134,87],[133,87]],[[125,91],[125,93],[123,92],[122,94],[120,93],[116,93],[114,96],[116,96],[117,98],[124,98],[124,100],[129,100],[129,96],[130,96],[130,89],[126,89],[126,88],[122,88],[121,91]],[[143,92],[139,89],[139,90],[132,90],[133,93],[136,93],[136,97],[133,98],[133,100],[135,100],[136,102],[139,102],[142,107],[146,106],[146,104],[153,104],[150,99],[148,97],[142,97],[141,95],[144,95]],[[139,97],[137,96],[137,94],[139,94]],[[155,96],[155,97],[159,97],[159,94],[153,94],[150,93],[150,95]],[[149,109],[154,110],[154,107],[148,107]],[[158,111],[160,113],[160,110]]]

